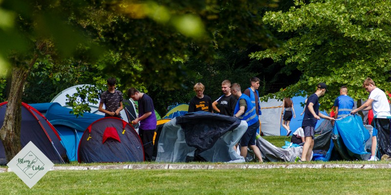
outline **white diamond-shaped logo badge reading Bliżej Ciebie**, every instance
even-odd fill
[[[7,164],[29,188],[32,188],[53,165],[31,141]]]

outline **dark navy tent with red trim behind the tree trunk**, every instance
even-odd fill
[[[0,125],[3,125],[7,102],[0,103]],[[50,122],[32,106],[22,102],[21,144],[33,142],[53,163],[69,162],[61,138]],[[0,140],[0,164],[6,164],[5,150]]]

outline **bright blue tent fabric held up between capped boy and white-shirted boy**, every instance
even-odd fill
[[[369,154],[366,151],[365,143],[370,135],[360,116],[349,115],[336,120],[333,134],[342,137],[344,145],[351,153],[357,155]]]

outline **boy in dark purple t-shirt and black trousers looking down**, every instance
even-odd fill
[[[128,96],[138,101],[138,117],[131,121],[132,124],[140,122],[138,135],[144,145],[144,156],[146,161],[151,161],[153,151],[153,135],[156,129],[156,115],[153,101],[150,96],[140,93],[135,88],[128,89]]]

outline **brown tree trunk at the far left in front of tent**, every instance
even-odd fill
[[[44,43],[38,45],[39,52],[42,51]],[[38,55],[34,55],[27,65],[12,68],[11,88],[8,96],[7,109],[5,110],[4,123],[0,129],[0,138],[4,146],[5,157],[9,162],[19,151],[21,151],[21,121],[22,121],[22,93],[31,67],[37,61]]]

